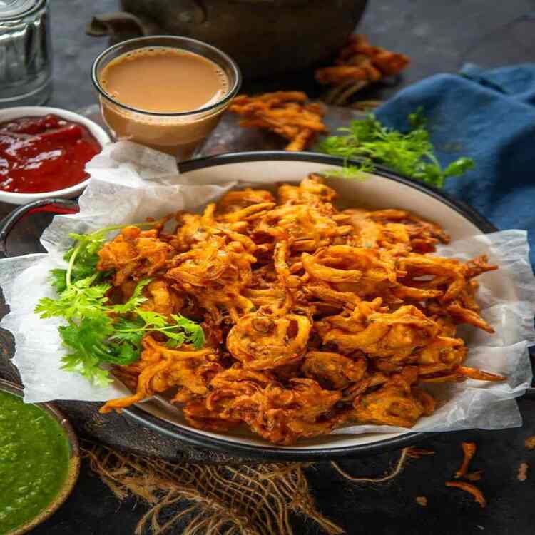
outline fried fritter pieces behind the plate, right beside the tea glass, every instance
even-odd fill
[[[327,132],[322,121],[325,107],[308,102],[300,91],[238,95],[229,110],[244,118],[240,126],[265,128],[290,141],[286,151],[304,151],[318,134]]]

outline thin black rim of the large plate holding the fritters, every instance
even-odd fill
[[[344,158],[313,152],[245,151],[205,156],[203,158],[183,161],[178,163],[178,169],[180,170],[180,173],[187,173],[188,171],[210,168],[215,165],[256,161],[306,161],[312,163],[327,163],[336,166],[344,165],[346,162]],[[350,160],[349,162],[358,163],[358,161],[354,160]],[[410,188],[439,200],[439,202],[447,205],[447,207],[452,208],[452,210],[455,210],[459,215],[462,215],[465,219],[469,220],[469,222],[479,228],[482,233],[493,233],[498,230],[489,220],[477,212],[477,210],[474,210],[474,208],[461,200],[453,198],[451,195],[444,193],[444,191],[439,190],[432,185],[395,173],[381,165],[376,165],[373,173],[383,178],[387,178],[388,180],[407,185]],[[292,447],[280,448],[270,445],[255,446],[252,444],[240,444],[238,442],[230,442],[223,437],[208,437],[198,432],[191,431],[190,429],[185,429],[165,422],[165,420],[157,418],[136,406],[123,409],[123,414],[126,414],[127,417],[135,420],[138,424],[148,427],[148,429],[167,437],[177,439],[180,442],[185,442],[186,444],[214,449],[218,452],[235,456],[253,457],[258,459],[277,459],[279,461],[351,459],[365,455],[379,454],[392,449],[400,449],[416,442],[422,442],[424,439],[430,437],[429,433],[409,431],[402,433],[397,437],[386,438],[369,444],[357,444],[354,446],[321,447],[315,449]]]

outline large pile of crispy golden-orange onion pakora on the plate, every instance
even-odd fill
[[[347,424],[412,427],[434,412],[426,384],[504,377],[464,365],[457,326],[492,332],[476,277],[494,270],[433,255],[449,237],[405,210],[339,210],[322,178],[233,190],[175,230],[129,227],[103,245],[98,270],[146,310],[202,322],[205,345],[143,338],[114,373],[133,394],[101,412],[163,394],[193,427],[245,424],[275,444]]]

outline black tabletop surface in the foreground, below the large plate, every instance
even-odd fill
[[[337,521],[347,534],[377,535],[504,535],[532,534],[535,524],[534,480],[516,479],[521,462],[535,466],[535,451],[523,447],[535,432],[533,402],[522,400],[524,427],[503,432],[462,432],[442,434],[422,444],[436,454],[407,464],[404,472],[385,485],[352,484],[342,479],[329,464],[307,469],[312,493],[321,511]],[[472,440],[478,452],[472,469],[482,469],[479,487],[489,501],[486,509],[474,504],[469,494],[447,489],[462,459],[460,442]],[[397,460],[395,454],[382,454],[340,466],[350,474],[382,475]],[[427,507],[419,506],[416,496],[427,497]],[[113,497],[101,481],[84,467],[80,481],[66,504],[36,535],[130,535],[146,508]],[[319,534],[310,522],[294,519],[296,535]],[[170,531],[182,533],[180,527]],[[273,534],[278,535],[278,534]]]

